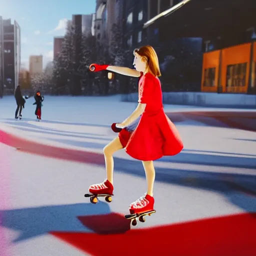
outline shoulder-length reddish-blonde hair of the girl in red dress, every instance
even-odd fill
[[[142,60],[146,61],[148,72],[154,76],[161,76],[157,54],[150,45],[141,46],[133,50],[133,54],[138,54]]]

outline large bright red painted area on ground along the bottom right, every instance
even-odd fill
[[[171,214],[171,212],[169,212]],[[93,216],[94,217],[94,216]],[[149,217],[157,217],[157,212]],[[90,216],[86,222],[89,222]],[[59,239],[90,255],[175,255],[175,256],[255,256],[256,213],[242,213],[199,219],[165,226],[127,230],[126,220],[120,223],[107,215],[99,215],[104,233],[50,232]],[[89,228],[98,229],[95,217]],[[105,221],[103,221],[105,220]],[[116,227],[118,225],[118,228]],[[123,228],[120,227],[123,225]],[[140,224],[140,226],[143,224]],[[113,234],[113,230],[117,232]],[[120,233],[120,230],[127,230]]]

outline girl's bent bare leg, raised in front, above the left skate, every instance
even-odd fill
[[[112,155],[115,151],[122,148],[123,146],[118,136],[103,148],[103,153],[105,157],[106,178],[111,184],[113,184],[113,169],[114,169],[114,161],[113,161]]]

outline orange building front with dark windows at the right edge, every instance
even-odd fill
[[[203,53],[201,91],[256,92],[256,42]]]

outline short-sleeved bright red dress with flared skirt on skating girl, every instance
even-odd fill
[[[137,125],[131,131],[123,128],[118,134],[127,154],[147,161],[179,153],[183,143],[175,125],[164,113],[158,77],[150,73],[140,76],[138,102],[146,103],[146,107],[135,121]]]

